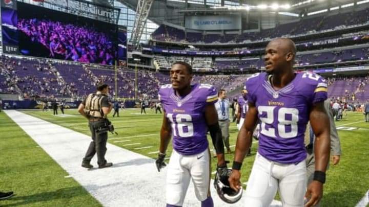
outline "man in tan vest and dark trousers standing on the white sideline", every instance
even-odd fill
[[[109,86],[107,84],[98,83],[96,93],[89,94],[78,106],[78,112],[89,120],[92,134],[92,142],[82,162],[82,167],[84,168],[93,168],[90,162],[95,153],[97,154],[99,168],[107,168],[113,165],[112,163],[107,163],[105,159],[108,132],[99,131],[101,128],[109,125],[107,116],[113,108],[113,104],[108,101],[108,90]]]

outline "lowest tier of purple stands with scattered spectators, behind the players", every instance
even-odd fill
[[[177,60],[176,58],[174,58]],[[173,61],[174,61],[173,59]],[[95,91],[95,85],[104,81],[110,85],[115,97],[115,71],[98,69],[89,64],[35,59],[17,59],[3,56],[0,62],[0,93],[18,94],[27,98],[53,99],[70,97],[81,100]],[[117,70],[117,97],[145,100],[156,99],[160,85],[169,84],[169,75],[146,70]],[[137,91],[135,91],[137,77]],[[242,87],[248,75],[194,75],[194,83],[212,84],[216,88],[236,91]],[[367,100],[369,76],[358,78],[328,78],[329,97],[353,108]],[[356,107],[357,108],[357,107]],[[359,110],[359,109],[353,109]]]

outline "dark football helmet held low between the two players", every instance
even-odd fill
[[[243,190],[242,187],[239,191],[235,191],[231,188],[228,178],[232,170],[228,168],[224,170],[226,170],[226,173],[221,172],[222,175],[220,175],[218,171],[215,173],[214,187],[220,199],[226,203],[235,203],[241,199]]]

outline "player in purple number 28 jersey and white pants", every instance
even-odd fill
[[[245,191],[245,206],[269,206],[277,190],[283,207],[315,205],[323,196],[330,156],[330,122],[323,102],[325,80],[313,73],[293,71],[296,47],[291,39],[274,39],[265,49],[266,73],[245,82],[249,109],[238,133],[232,174],[240,188],[240,168],[259,119],[259,148]],[[316,135],[314,180],[306,190],[304,132],[310,120]],[[304,198],[305,196],[305,198]]]

